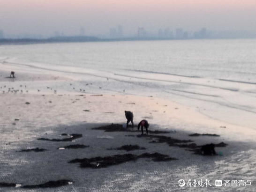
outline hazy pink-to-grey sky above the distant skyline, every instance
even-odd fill
[[[0,0],[0,29],[5,34],[66,35],[108,33],[121,24],[124,33],[149,31],[256,31],[256,0]]]

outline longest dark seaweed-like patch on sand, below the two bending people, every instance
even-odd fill
[[[153,161],[171,161],[177,160],[176,158],[171,158],[168,155],[163,155],[159,153],[143,153],[141,155],[134,154],[123,154],[123,155],[113,155],[105,157],[93,157],[93,158],[84,158],[84,159],[74,159],[68,163],[80,163],[81,168],[104,168],[112,165],[118,165],[121,163],[136,161],[139,158],[151,158]]]

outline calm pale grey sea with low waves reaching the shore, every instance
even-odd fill
[[[256,128],[256,39],[1,45],[0,59],[93,83],[88,92],[163,97]]]

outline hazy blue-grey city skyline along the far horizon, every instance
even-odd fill
[[[74,34],[65,34],[61,31],[53,31],[52,35],[44,36],[42,34],[7,34],[0,29],[1,38],[31,38],[31,39],[45,39],[49,37],[71,37],[71,36],[90,36],[103,39],[123,39],[123,38],[156,38],[156,39],[200,39],[200,38],[256,38],[256,32],[248,32],[244,30],[237,31],[213,31],[207,28],[201,28],[196,31],[188,31],[185,28],[171,29],[170,27],[159,28],[154,30],[147,30],[144,27],[138,27],[133,33],[125,33],[125,28],[122,25],[116,25],[109,28],[105,34],[90,34],[86,33],[84,27],[77,29]]]

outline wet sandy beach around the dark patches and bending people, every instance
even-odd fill
[[[208,118],[196,109],[165,99],[124,93],[107,95],[100,90],[90,92],[90,86],[94,85],[81,89],[67,76],[23,72],[13,80],[6,78],[7,74],[8,69],[0,72],[0,183],[21,186],[0,186],[2,191],[53,191],[53,188],[22,187],[57,180],[72,183],[54,188],[55,191],[192,190],[188,186],[179,187],[179,179],[211,180],[211,187],[193,188],[198,191],[224,190],[224,187],[214,186],[215,179],[252,180],[252,187],[226,187],[225,191],[253,191],[256,187],[256,131],[253,129]],[[55,84],[58,88],[63,85],[63,89],[54,89]],[[136,125],[144,118],[149,121],[151,131],[168,133],[138,137],[140,132],[136,132],[136,127],[121,132],[92,129],[112,123],[124,124],[125,110],[133,111]],[[189,136],[192,133],[220,136]],[[70,138],[70,134],[82,134],[82,137],[63,141]],[[197,146],[221,142],[228,145],[216,148],[217,153],[223,155],[203,156],[189,151],[188,146],[158,142],[159,137],[154,135],[191,140],[187,144],[196,143]],[[76,144],[85,147],[67,148]],[[145,149],[115,150],[130,144]],[[64,150],[59,149],[64,147]],[[20,152],[31,148],[45,150]],[[143,153],[159,153],[176,160],[140,158]],[[137,155],[136,160],[98,169],[69,163],[76,158],[124,154]]]

